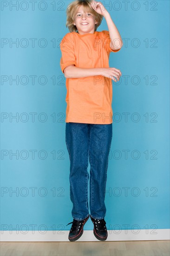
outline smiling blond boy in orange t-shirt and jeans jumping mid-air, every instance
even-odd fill
[[[98,32],[103,17],[109,31]],[[91,217],[94,236],[105,241],[108,236],[104,201],[112,139],[112,80],[116,81],[116,77],[119,81],[122,75],[119,69],[109,67],[109,54],[118,52],[123,43],[101,2],[75,0],[70,3],[66,27],[70,33],[65,34],[60,43],[60,67],[66,78],[65,142],[70,158],[70,198],[73,203],[68,239],[78,240],[85,222]]]

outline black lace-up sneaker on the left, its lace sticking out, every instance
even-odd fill
[[[80,238],[80,236],[82,236],[83,227],[85,225],[85,222],[87,222],[88,219],[89,219],[89,216],[82,221],[77,221],[77,220],[73,219],[73,222],[68,223],[68,224],[72,223],[72,227],[71,227],[69,235],[68,235],[68,239],[71,242],[78,240]]]

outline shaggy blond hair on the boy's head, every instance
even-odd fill
[[[100,26],[103,15],[97,13],[92,7],[91,7],[92,0],[75,0],[71,2],[66,9],[66,15],[67,15],[67,20],[66,20],[66,27],[68,27],[70,32],[78,32],[78,29],[75,25],[72,24],[74,22],[75,18],[75,13],[78,10],[78,7],[83,6],[85,11],[90,12],[94,15],[95,20],[98,22],[95,24],[95,29],[94,31],[97,30],[97,28]]]

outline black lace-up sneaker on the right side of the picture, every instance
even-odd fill
[[[105,241],[108,236],[107,228],[105,226],[106,224],[105,219],[99,220],[99,219],[92,218],[92,216],[90,217],[94,224],[94,229],[93,229],[94,236],[100,241]]]

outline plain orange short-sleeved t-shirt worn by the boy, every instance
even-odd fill
[[[94,34],[65,34],[60,42],[62,57],[60,67],[74,64],[76,67],[109,67],[109,31],[95,31]],[[63,72],[64,73],[64,72]],[[110,124],[112,123],[112,79],[102,75],[66,78],[65,122]]]

